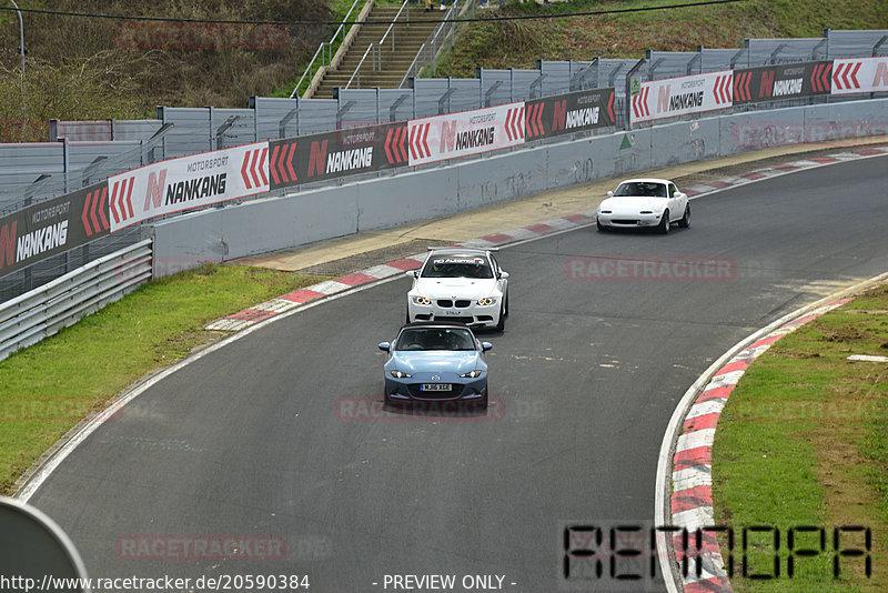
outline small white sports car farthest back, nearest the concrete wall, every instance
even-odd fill
[[[656,227],[667,233],[673,222],[690,227],[690,204],[667,179],[629,179],[607,192],[597,219],[599,231]]]

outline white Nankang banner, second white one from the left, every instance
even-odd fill
[[[456,159],[524,143],[524,103],[410,121],[410,164]]]

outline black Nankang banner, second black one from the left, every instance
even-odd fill
[[[269,142],[271,189],[407,164],[407,123],[349,128]]]

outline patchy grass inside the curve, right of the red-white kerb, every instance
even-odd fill
[[[867,313],[865,311],[872,311]],[[881,591],[888,579],[888,366],[849,354],[888,354],[888,289],[878,289],[783,338],[731,392],[713,452],[716,523],[781,531],[780,573],[743,579],[735,545],[735,591]],[[826,529],[827,551],[787,576],[787,531]],[[872,530],[871,579],[864,562],[841,557],[833,575],[833,529]],[[806,536],[806,547],[816,540]],[[847,535],[848,545],[862,537]],[[770,542],[750,554],[749,571],[771,574]],[[724,542],[723,542],[724,547]],[[797,545],[798,547],[798,545]]]

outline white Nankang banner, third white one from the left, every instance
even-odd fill
[[[632,123],[703,113],[731,105],[731,70],[634,82]]]

